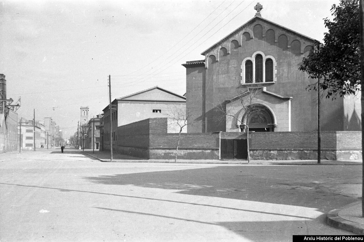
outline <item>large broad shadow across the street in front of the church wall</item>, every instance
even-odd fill
[[[83,178],[98,184],[173,189],[181,194],[314,207],[327,212],[358,201],[356,191],[345,191],[342,186],[359,186],[361,171],[348,166],[218,166]]]

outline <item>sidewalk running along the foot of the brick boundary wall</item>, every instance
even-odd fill
[[[318,165],[317,160],[146,160],[140,157],[128,156],[123,154],[112,154],[112,161],[110,160],[109,151],[92,151],[92,149],[85,149],[83,153],[92,156],[102,162],[147,162],[147,163],[191,163],[191,164],[254,164],[254,165]],[[362,160],[358,161],[328,161],[321,160],[320,165],[362,165]]]

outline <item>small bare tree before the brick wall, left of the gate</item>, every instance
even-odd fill
[[[177,153],[179,147],[179,141],[181,139],[181,133],[183,128],[187,128],[187,125],[193,125],[196,120],[191,120],[192,111],[186,110],[184,107],[180,106],[171,106],[169,113],[168,113],[168,125],[171,128],[178,128],[178,140],[177,140],[177,147],[174,156],[174,162],[177,162]]]

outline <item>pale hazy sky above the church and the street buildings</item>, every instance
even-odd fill
[[[259,0],[258,0],[259,1]],[[260,0],[261,16],[323,40],[339,0]],[[154,86],[183,95],[186,61],[252,19],[257,0],[0,1],[0,73],[18,118],[52,117],[72,136],[111,99]]]

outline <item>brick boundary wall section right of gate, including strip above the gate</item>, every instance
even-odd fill
[[[246,139],[246,134],[222,132],[221,138]],[[317,132],[252,132],[249,147],[252,160],[314,160]],[[361,160],[361,131],[321,132],[321,158]]]

